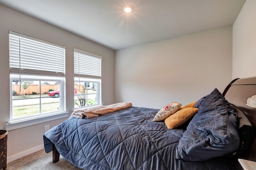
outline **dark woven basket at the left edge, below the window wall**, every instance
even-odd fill
[[[0,170],[6,169],[7,163],[7,134],[5,130],[0,130]]]

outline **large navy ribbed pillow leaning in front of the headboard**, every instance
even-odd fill
[[[201,161],[224,156],[239,147],[237,112],[214,89],[204,96],[176,149],[176,158]]]

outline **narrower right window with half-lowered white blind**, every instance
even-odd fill
[[[101,104],[101,59],[74,49],[74,108]]]

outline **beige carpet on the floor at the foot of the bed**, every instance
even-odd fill
[[[7,164],[7,170],[82,170],[60,155],[60,161],[52,163],[52,152],[44,149],[34,152]]]

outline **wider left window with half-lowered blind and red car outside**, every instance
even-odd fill
[[[9,32],[10,121],[64,112],[65,47]]]

